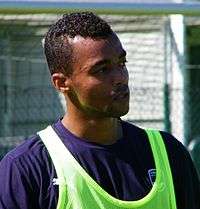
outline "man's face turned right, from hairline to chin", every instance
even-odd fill
[[[77,110],[94,117],[120,117],[129,109],[126,52],[118,37],[93,40],[80,36],[73,44],[73,73],[68,98]]]

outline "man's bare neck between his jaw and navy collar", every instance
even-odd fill
[[[118,118],[88,118],[66,114],[62,123],[74,135],[98,144],[113,144],[123,135]]]

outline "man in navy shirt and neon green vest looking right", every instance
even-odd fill
[[[129,110],[126,51],[101,18],[64,15],[44,41],[67,113],[0,164],[2,209],[199,209],[186,149],[120,120]]]

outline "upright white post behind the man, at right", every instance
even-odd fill
[[[182,0],[177,0],[177,3],[181,3]],[[179,136],[178,138],[182,143],[185,143],[185,135],[184,135],[184,72],[185,72],[185,24],[184,24],[184,16],[183,15],[171,15],[171,30],[174,38],[176,53],[173,53],[173,75],[172,75],[172,88],[174,93],[176,94],[176,101],[172,101],[172,105],[174,107],[173,111],[173,127],[172,130],[175,133],[175,136]],[[178,96],[177,96],[178,95]],[[178,100],[177,100],[178,97]],[[176,133],[178,130],[178,133]]]

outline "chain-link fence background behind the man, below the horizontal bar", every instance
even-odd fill
[[[0,155],[66,111],[51,86],[41,44],[59,17],[0,15]],[[170,131],[185,142],[198,136],[199,18],[186,17],[183,23],[170,15],[102,17],[127,51],[131,100],[123,118]]]

